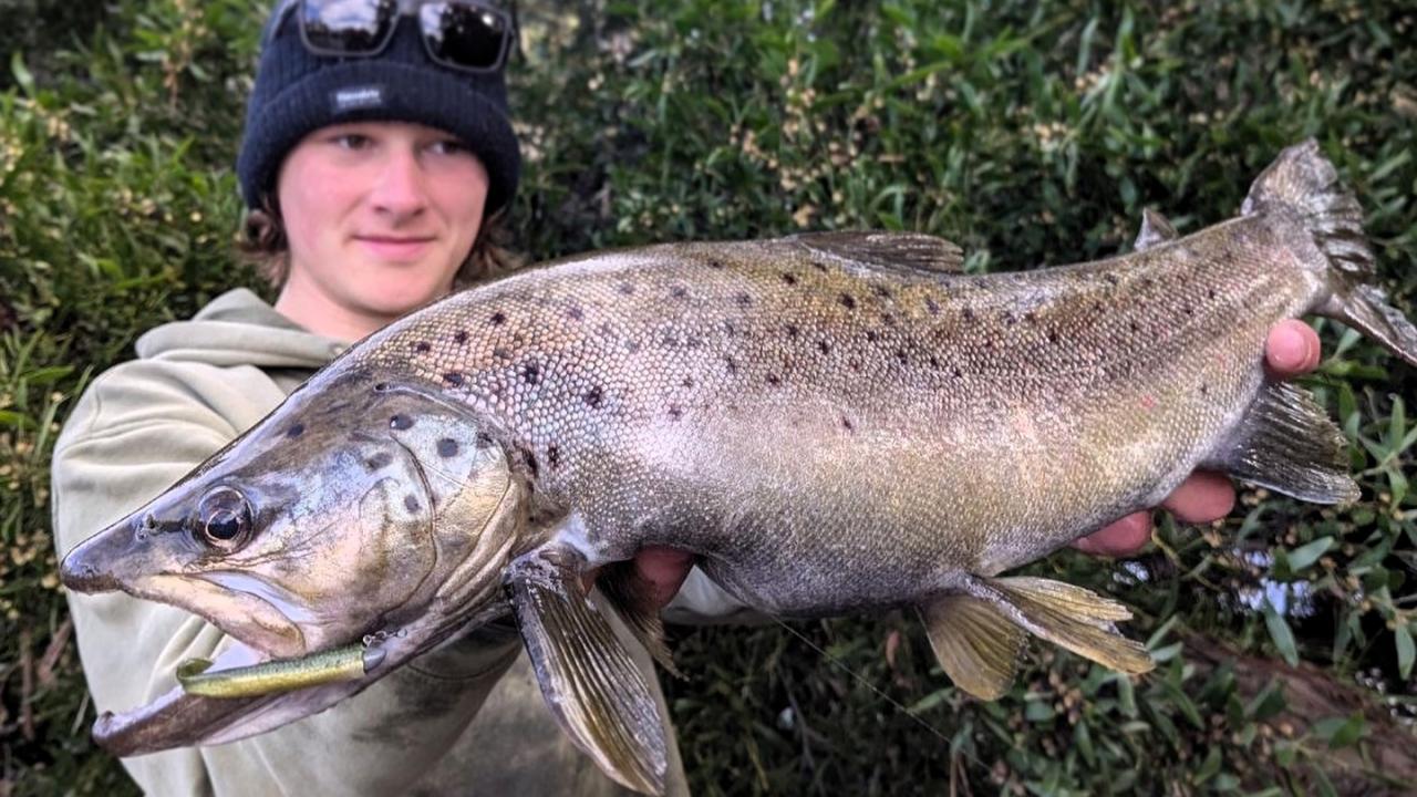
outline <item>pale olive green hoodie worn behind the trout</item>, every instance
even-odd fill
[[[217,298],[191,321],[143,335],[139,359],[99,376],[60,435],[60,553],[186,475],[343,347],[245,289]],[[716,603],[697,577],[690,591],[708,614],[737,608]],[[213,658],[224,644],[201,618],[126,594],[69,594],[69,608],[98,710],[156,699],[176,685],[180,661]],[[680,618],[703,614],[676,608]],[[659,696],[643,650],[631,650]],[[621,793],[561,733],[520,652],[516,631],[493,625],[271,733],[123,764],[150,794]],[[670,791],[687,793],[677,749],[670,750]]]

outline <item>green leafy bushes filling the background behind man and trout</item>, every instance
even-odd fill
[[[1318,138],[1417,315],[1417,11],[1407,4],[898,0],[521,4],[513,223],[536,260],[796,230],[935,233],[972,271],[1185,233]],[[35,3],[0,0],[20,16]],[[67,4],[0,33],[0,796],[132,791],[94,710],[48,536],[48,457],[137,333],[254,275],[231,170],[255,0]],[[52,17],[50,17],[52,20]],[[1036,644],[965,699],[911,615],[677,630],[703,794],[1397,793],[1417,779],[1417,373],[1338,325],[1308,380],[1363,498],[1244,492],[1118,566],[1034,570],[1134,606],[1129,679]],[[1408,401],[1404,403],[1403,397]],[[904,708],[903,708],[904,706]],[[472,784],[476,786],[476,784]]]

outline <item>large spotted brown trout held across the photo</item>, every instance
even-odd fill
[[[1124,607],[1000,573],[1196,468],[1356,498],[1342,434],[1261,352],[1316,312],[1417,364],[1360,220],[1308,142],[1238,217],[1178,237],[1149,214],[1135,252],[1097,262],[968,277],[939,238],[825,233],[570,258],[453,295],[68,554],[68,587],[244,642],[184,672],[235,696],[179,689],[95,733],[120,754],[248,736],[512,611],[565,730],[659,791],[655,705],[582,577],[601,569],[665,657],[615,567],[650,545],[774,615],[915,607],[982,698],[1030,632],[1146,671]]]

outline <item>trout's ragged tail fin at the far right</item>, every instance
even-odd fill
[[[1357,329],[1417,366],[1417,326],[1374,284],[1377,267],[1363,234],[1363,210],[1314,139],[1281,152],[1255,179],[1240,211],[1298,216],[1328,260],[1332,292],[1316,312]]]

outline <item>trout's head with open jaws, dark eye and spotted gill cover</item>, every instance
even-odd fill
[[[527,526],[524,489],[462,404],[368,370],[326,370],[71,550],[61,579],[201,615],[241,642],[214,669],[397,640],[371,682],[469,618],[504,611],[500,577]],[[103,722],[120,754],[214,743],[299,719],[367,682],[217,706],[169,695]],[[255,709],[242,703],[261,706],[259,722],[247,722]]]

